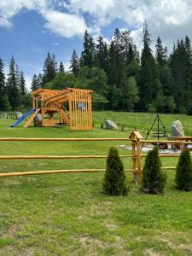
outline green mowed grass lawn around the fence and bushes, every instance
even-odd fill
[[[67,127],[9,128],[0,120],[1,137],[128,137],[137,127],[143,137],[154,114],[94,113],[94,131],[70,132]],[[170,132],[172,121],[183,122],[192,134],[192,117],[161,115]],[[102,130],[114,119],[119,131]],[[124,131],[121,131],[121,126]],[[125,142],[0,142],[0,154],[108,154]],[[119,154],[131,154],[119,149]],[[106,160],[1,160],[0,172],[105,168]],[[131,160],[124,159],[125,168]],[[175,166],[177,159],[163,160]],[[192,192],[174,186],[167,171],[165,195],[143,195],[131,183],[128,196],[102,193],[104,173],[70,173],[0,178],[0,255],[192,255]]]

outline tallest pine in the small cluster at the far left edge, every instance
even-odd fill
[[[15,60],[12,56],[9,62],[9,74],[6,84],[7,94],[9,96],[9,102],[11,108],[15,110],[20,105],[20,91],[17,84],[16,73],[15,73]]]

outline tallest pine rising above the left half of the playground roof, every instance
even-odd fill
[[[55,78],[56,71],[55,55],[50,55],[48,52],[44,61],[44,73],[42,78],[43,86]]]

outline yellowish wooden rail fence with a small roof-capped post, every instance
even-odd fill
[[[192,137],[191,137],[192,139]],[[147,156],[143,154],[143,144],[174,144],[174,145],[192,145],[192,141],[186,140],[143,140],[137,129],[131,131],[128,138],[20,138],[20,137],[2,137],[0,142],[110,142],[125,141],[131,143],[131,154],[120,154],[120,158],[130,158],[132,168],[125,169],[125,172],[134,174],[135,182],[141,181],[142,177],[142,159]],[[160,154],[160,157],[178,157],[179,154]],[[27,160],[27,159],[54,159],[54,160],[72,160],[72,159],[106,159],[107,155],[0,155],[0,160]],[[165,170],[175,170],[174,166],[164,166]],[[70,169],[70,170],[53,170],[53,171],[30,171],[30,172],[1,172],[0,177],[70,173],[70,172],[104,172],[105,169]]]

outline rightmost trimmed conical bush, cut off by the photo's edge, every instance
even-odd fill
[[[192,164],[188,148],[184,148],[180,154],[176,168],[175,182],[177,188],[180,190],[192,190]]]

